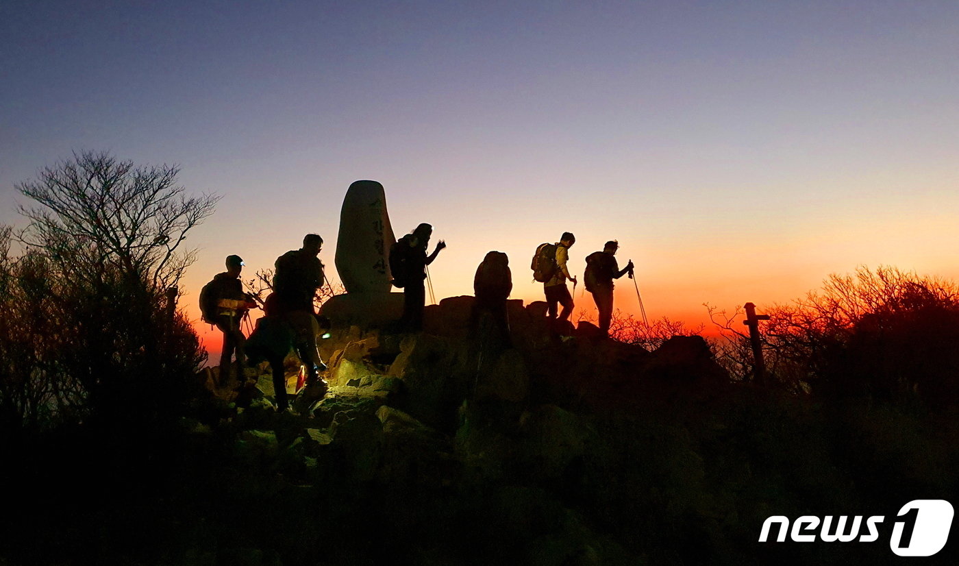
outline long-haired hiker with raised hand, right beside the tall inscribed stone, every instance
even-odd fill
[[[446,243],[440,240],[428,256],[426,250],[431,235],[433,226],[420,224],[389,248],[389,271],[393,274],[393,285],[403,289],[403,318],[400,318],[400,326],[409,332],[423,328],[426,267],[433,263],[440,249],[446,248]]]

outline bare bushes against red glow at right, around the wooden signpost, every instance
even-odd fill
[[[742,311],[707,308],[720,333],[720,360],[741,378],[752,373]],[[795,393],[885,398],[919,395],[959,401],[959,286],[880,266],[831,274],[816,291],[763,309],[762,352],[773,381]]]

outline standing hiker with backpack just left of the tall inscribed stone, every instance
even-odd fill
[[[304,395],[317,398],[326,388],[317,374],[317,370],[325,371],[326,365],[316,349],[319,324],[313,306],[316,290],[323,284],[323,264],[316,257],[322,247],[322,238],[307,234],[303,238],[303,248],[292,249],[276,258],[273,273],[275,310],[290,324],[295,342],[300,344],[297,349],[301,353],[300,360],[306,366],[307,390]]]

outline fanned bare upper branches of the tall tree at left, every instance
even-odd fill
[[[187,197],[179,168],[136,167],[108,153],[74,153],[16,185],[35,205],[20,206],[31,247],[70,257],[71,271],[118,269],[152,291],[174,287],[196,259],[183,249],[187,232],[213,214],[219,197]]]

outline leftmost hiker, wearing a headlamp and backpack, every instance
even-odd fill
[[[220,355],[220,385],[226,385],[230,376],[230,360],[237,357],[237,381],[246,381],[244,369],[246,338],[240,330],[240,322],[246,311],[256,303],[243,291],[240,272],[243,259],[239,255],[226,256],[226,271],[218,273],[199,292],[199,311],[204,321],[216,325],[223,333],[223,348]]]

